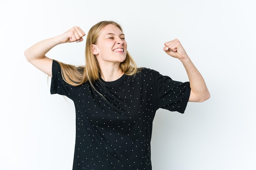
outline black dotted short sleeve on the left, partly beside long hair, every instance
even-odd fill
[[[65,83],[63,80],[63,77],[61,75],[61,66],[60,64],[56,61],[53,60],[52,62],[52,82],[51,82],[51,94],[59,94],[59,95],[66,95],[69,93],[68,92],[68,85]]]

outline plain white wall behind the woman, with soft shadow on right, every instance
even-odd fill
[[[72,101],[50,95],[47,76],[25,60],[34,43],[72,26],[86,33],[115,20],[138,66],[188,81],[162,50],[178,38],[211,98],[184,114],[158,110],[153,170],[256,170],[256,1],[13,0],[0,2],[0,170],[71,170]],[[85,42],[56,46],[49,57],[84,64]]]

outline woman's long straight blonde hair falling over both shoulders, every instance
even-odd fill
[[[92,53],[92,44],[97,44],[99,32],[104,26],[108,24],[117,26],[123,32],[121,26],[114,21],[101,21],[92,26],[87,34],[86,39],[85,66],[77,67],[57,61],[61,65],[61,74],[65,82],[72,86],[79,86],[89,81],[89,83],[94,88],[92,83],[96,80],[99,80],[101,69],[95,55]],[[124,60],[124,62],[120,63],[120,68],[126,75],[134,75],[140,70],[139,68],[137,68],[135,61],[132,59],[128,51],[126,54],[126,59]]]

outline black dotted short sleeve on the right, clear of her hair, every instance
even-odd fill
[[[190,95],[189,82],[177,82],[168,76],[159,74],[158,105],[170,111],[184,113]]]

